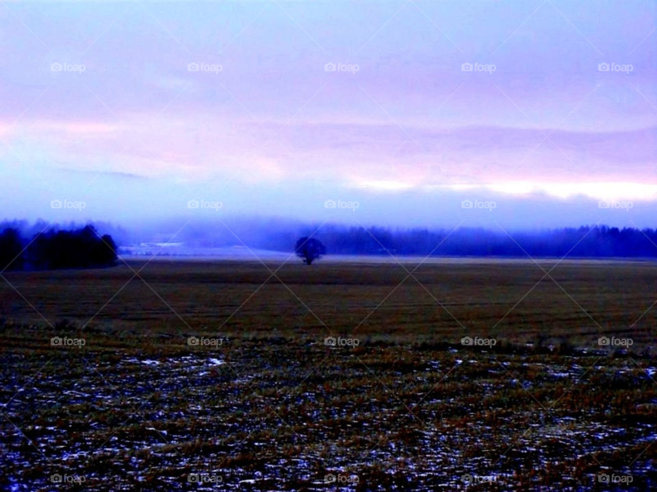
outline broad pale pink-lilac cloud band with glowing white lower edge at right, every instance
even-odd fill
[[[150,114],[132,114],[120,123],[19,121],[9,133],[12,148],[36,167],[56,163],[62,169],[187,182],[276,184],[312,178],[382,191],[480,184],[510,193],[517,193],[522,183],[544,183],[555,196],[559,183],[564,190],[569,183],[657,184],[657,127],[621,132],[402,130],[367,119],[359,124],[288,125],[248,118],[226,121],[207,114],[167,114],[154,121]],[[5,158],[9,155],[5,150]]]

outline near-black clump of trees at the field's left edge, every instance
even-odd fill
[[[116,262],[112,236],[99,236],[92,225],[77,230],[50,230],[28,241],[14,228],[0,233],[0,271],[110,267]]]

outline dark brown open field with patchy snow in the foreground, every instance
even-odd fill
[[[296,261],[4,273],[0,487],[657,487],[657,264]]]

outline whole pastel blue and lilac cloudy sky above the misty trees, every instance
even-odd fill
[[[5,218],[655,227],[650,0],[0,1]]]

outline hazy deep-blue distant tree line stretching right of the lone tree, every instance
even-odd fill
[[[448,230],[397,229],[384,227],[321,227],[320,238],[330,254],[417,256],[552,256],[587,258],[655,257],[657,231],[583,226],[534,232],[463,228]],[[285,236],[285,243],[289,248]],[[285,243],[272,249],[285,249]]]

